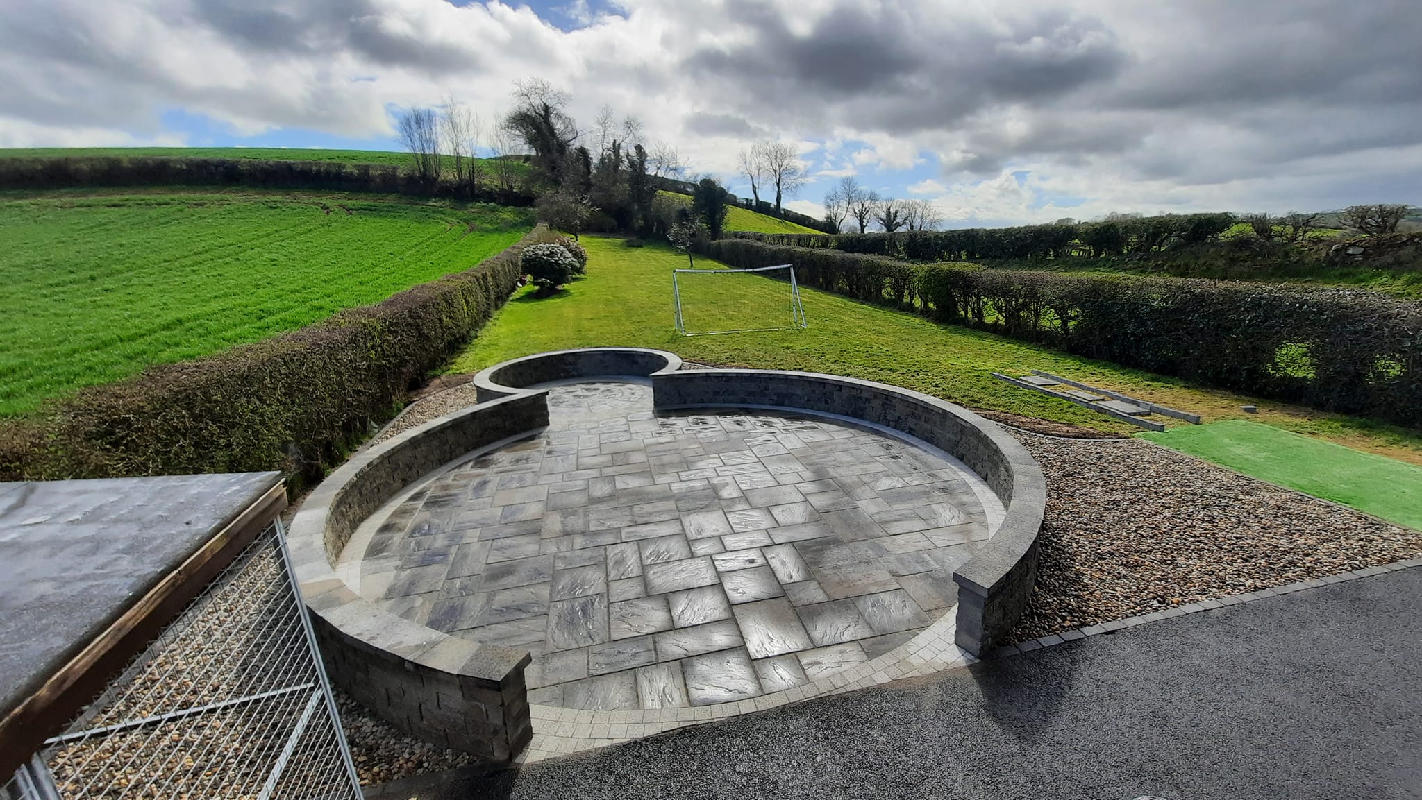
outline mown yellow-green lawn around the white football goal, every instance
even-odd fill
[[[508,358],[570,347],[654,347],[710,364],[835,372],[919,389],[970,408],[1119,433],[1139,431],[990,375],[993,371],[1022,375],[1035,368],[1194,411],[1210,421],[1243,418],[1240,405],[1257,404],[1260,413],[1253,419],[1422,463],[1422,436],[1415,432],[1199,389],[1172,378],[983,331],[940,325],[914,314],[809,288],[801,290],[809,320],[806,330],[683,337],[673,328],[671,270],[687,266],[685,256],[654,244],[626,247],[620,239],[610,237],[584,236],[583,244],[589,253],[586,279],[547,298],[522,291],[449,369],[474,372]],[[697,259],[698,267],[714,264]],[[782,284],[769,280],[765,284],[769,296],[781,297]],[[738,298],[727,301],[738,303]]]

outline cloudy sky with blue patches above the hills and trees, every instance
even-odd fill
[[[738,195],[791,142],[946,227],[1422,203],[1416,0],[6,0],[0,146],[398,149],[515,81]]]

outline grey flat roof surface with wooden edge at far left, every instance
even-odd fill
[[[0,719],[280,480],[0,483]]]

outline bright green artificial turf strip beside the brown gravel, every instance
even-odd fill
[[[1139,433],[1251,477],[1422,530],[1422,467],[1280,431],[1227,419]]]

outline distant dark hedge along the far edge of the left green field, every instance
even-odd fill
[[[0,189],[121,186],[253,186],[422,198],[458,193],[451,182],[424,183],[412,173],[388,163],[185,156],[0,158]],[[485,185],[474,196],[461,199],[532,206],[535,198]]]

